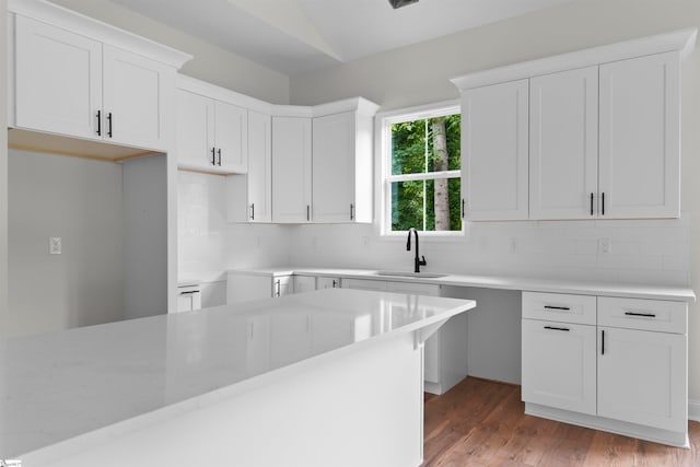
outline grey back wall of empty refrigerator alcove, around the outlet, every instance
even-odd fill
[[[9,310],[33,334],[121,319],[121,166],[11,150]],[[49,236],[62,254],[49,255]]]

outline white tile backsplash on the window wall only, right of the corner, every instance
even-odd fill
[[[382,238],[372,225],[300,225],[292,236],[294,265],[412,268],[406,238]],[[599,253],[602,238],[610,253]],[[433,272],[564,277],[687,285],[690,222],[528,221],[471,223],[466,237],[421,236]]]

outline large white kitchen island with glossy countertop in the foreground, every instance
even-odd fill
[[[418,466],[422,343],[475,306],[331,289],[1,341],[0,459]]]

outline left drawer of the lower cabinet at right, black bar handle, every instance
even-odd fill
[[[523,318],[595,325],[595,296],[523,292]]]

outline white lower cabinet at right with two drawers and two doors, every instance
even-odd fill
[[[686,303],[523,292],[522,355],[527,413],[687,445]]]

